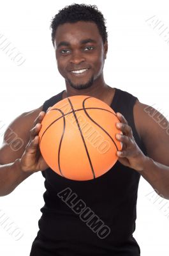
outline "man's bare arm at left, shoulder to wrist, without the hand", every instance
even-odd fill
[[[11,122],[4,132],[3,145],[0,148],[0,196],[8,195],[18,184],[34,172],[23,172],[20,158],[29,142],[30,130],[42,106],[23,113]]]

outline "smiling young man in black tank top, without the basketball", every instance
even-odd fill
[[[6,130],[0,151],[0,195],[11,193],[34,172],[41,171],[45,177],[45,205],[41,208],[40,230],[31,256],[138,256],[140,247],[132,236],[138,183],[142,175],[156,191],[169,198],[168,134],[144,110],[149,110],[149,106],[105,83],[107,31],[96,6],[66,6],[52,19],[51,28],[57,67],[66,90],[10,124],[24,141],[24,147],[17,152],[11,150],[9,141],[6,143]],[[65,179],[53,172],[40,154],[38,133],[45,112],[72,95],[103,100],[119,118],[119,161],[97,179]],[[164,116],[158,112],[157,115],[164,121]]]

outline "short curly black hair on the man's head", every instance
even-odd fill
[[[52,17],[50,29],[52,28],[52,44],[54,45],[55,31],[57,27],[66,22],[73,23],[78,21],[91,21],[95,22],[98,26],[99,33],[103,43],[107,41],[107,27],[105,26],[106,20],[103,14],[98,10],[96,5],[91,4],[70,4],[59,10],[59,12]]]

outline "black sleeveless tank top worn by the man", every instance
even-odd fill
[[[62,100],[63,92],[46,100],[43,111]],[[136,143],[146,154],[133,118],[136,99],[115,88],[110,107],[128,120]],[[140,173],[119,161],[92,180],[65,179],[50,168],[41,173],[45,205],[30,256],[140,255],[133,237]]]

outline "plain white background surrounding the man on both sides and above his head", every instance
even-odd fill
[[[0,34],[26,58],[23,65],[17,66],[0,49],[1,124],[10,124],[21,113],[40,107],[45,100],[64,90],[64,80],[57,72],[49,26],[52,16],[71,3],[64,0],[1,1]],[[106,83],[132,93],[140,102],[155,104],[167,118],[169,43],[165,42],[165,33],[159,35],[146,20],[155,15],[163,28],[167,28],[168,1],[76,3],[97,4],[107,19]],[[2,135],[0,139],[2,142]],[[0,198],[0,213],[3,211],[24,234],[15,241],[0,225],[1,255],[29,255],[41,217],[43,182],[41,173],[35,173],[13,193]],[[140,245],[142,256],[165,256],[169,255],[169,218],[165,216],[167,211],[159,210],[158,204],[149,200],[147,194],[151,191],[151,185],[141,177],[133,236]],[[163,200],[161,204],[167,207],[169,201]]]

